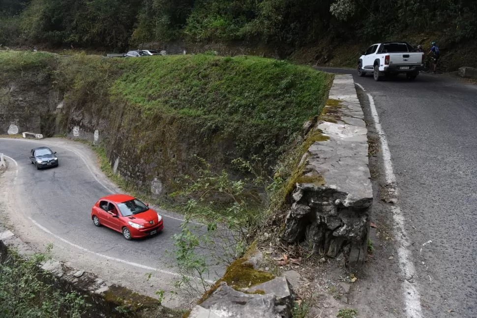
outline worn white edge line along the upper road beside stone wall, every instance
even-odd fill
[[[386,181],[388,188],[390,188],[389,194],[395,196],[397,191],[395,189],[396,176],[392,168],[391,162],[391,153],[389,152],[388,140],[386,139],[386,134],[381,126],[379,120],[378,112],[376,111],[376,105],[374,104],[373,97],[371,94],[367,94],[369,99],[369,106],[371,109],[371,116],[374,120],[374,125],[377,133],[380,136],[381,150],[383,153],[384,161],[384,170],[386,173]],[[394,238],[399,244],[397,254],[399,258],[399,267],[401,268],[401,273],[404,276],[404,281],[402,283],[402,288],[404,289],[404,301],[406,306],[406,317],[407,318],[422,318],[422,309],[420,304],[420,295],[417,290],[417,284],[414,279],[416,276],[416,270],[412,260],[411,252],[409,251],[409,242],[407,240],[407,233],[404,228],[404,217],[402,215],[401,209],[397,206],[397,201],[395,205],[391,206],[392,217],[395,222],[395,232]]]

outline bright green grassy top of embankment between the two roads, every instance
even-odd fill
[[[234,136],[241,155],[274,164],[321,112],[331,75],[286,61],[210,55],[129,59],[112,92],[144,111]]]

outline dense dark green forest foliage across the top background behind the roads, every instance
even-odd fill
[[[474,0],[0,0],[0,44],[125,49],[147,41],[475,39]]]

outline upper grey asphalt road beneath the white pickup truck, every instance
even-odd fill
[[[388,139],[423,317],[477,317],[477,86],[447,75],[375,82],[354,70],[322,70],[353,74],[373,96]],[[384,280],[397,276],[375,269]],[[392,290],[385,292],[392,296]]]

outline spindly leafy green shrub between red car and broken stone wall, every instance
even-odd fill
[[[182,273],[176,287],[197,295],[217,278],[223,269],[217,265],[230,264],[244,253],[268,203],[268,180],[255,170],[255,163],[237,159],[233,164],[250,177],[234,180],[225,170],[213,172],[200,159],[197,177],[184,176],[186,188],[174,194],[186,200],[185,221],[174,235],[175,258]]]

